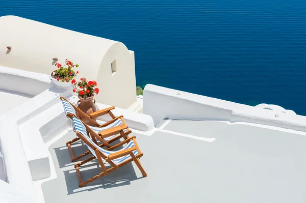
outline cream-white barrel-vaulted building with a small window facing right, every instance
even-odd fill
[[[97,102],[121,108],[136,102],[134,52],[121,42],[17,16],[0,17],[0,30],[1,66],[50,74],[56,69],[54,57],[62,64],[69,59],[80,65],[75,68],[78,78],[97,81]],[[7,52],[6,46],[12,50]],[[114,60],[117,72],[112,74]]]

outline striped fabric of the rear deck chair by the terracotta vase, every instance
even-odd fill
[[[67,114],[67,113],[70,113],[70,114],[76,115],[73,106],[72,106],[69,102],[67,102],[66,100],[62,99],[62,104],[63,104],[64,111],[65,111],[66,114]],[[90,127],[95,133],[98,134],[100,131],[103,131],[103,130],[106,130],[106,129],[109,129],[109,128],[113,128],[113,127],[115,127],[115,126],[119,126],[119,125],[122,125],[122,124],[123,124],[123,123],[122,123],[121,119],[118,119],[116,122],[114,122],[114,123],[112,123],[112,124],[110,124],[110,125],[108,125],[108,126],[106,126],[106,127],[100,127],[100,128],[98,128],[98,127],[93,127],[93,126],[89,126],[89,127]],[[126,132],[126,131],[127,131],[126,129],[123,130],[123,132]],[[114,137],[117,137],[117,136],[119,136],[119,135],[120,135],[120,134],[117,134],[117,135],[113,135],[113,136],[107,137],[107,138],[105,138],[105,140],[106,140],[106,141],[111,140],[111,139],[113,139]]]

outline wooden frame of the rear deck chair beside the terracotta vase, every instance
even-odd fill
[[[65,100],[67,102],[69,102],[66,98],[64,97],[61,97],[60,98],[61,100]],[[115,121],[117,121],[118,119],[120,119],[123,123],[123,125],[120,125],[120,126],[116,126],[114,128],[112,128],[111,130],[110,129],[107,129],[107,130],[104,130],[104,131],[101,131],[101,132],[104,132],[102,133],[101,135],[105,136],[104,138],[106,137],[109,137],[109,136],[112,136],[112,135],[115,135],[115,134],[121,134],[121,136],[117,136],[117,137],[114,137],[113,139],[111,140],[104,140],[102,139],[103,141],[101,141],[101,144],[100,144],[100,147],[104,147],[106,146],[107,148],[110,148],[111,145],[110,143],[120,139],[121,137],[123,137],[124,139],[127,139],[129,136],[129,134],[132,132],[126,125],[124,119],[123,119],[123,115],[119,115],[119,117],[115,117],[115,115],[111,112],[112,109],[114,109],[115,107],[112,106],[112,107],[109,107],[109,108],[106,108],[106,109],[102,109],[102,110],[99,110],[99,111],[96,111],[94,113],[91,113],[90,114],[90,117],[84,113],[83,111],[81,111],[77,106],[74,106],[71,102],[69,102],[71,104],[71,106],[74,108],[75,112],[78,112],[79,114],[82,115],[82,117],[85,117],[86,119],[88,119],[88,121],[90,121],[93,125],[95,125],[96,127],[106,127],[112,123],[114,123]],[[109,114],[111,117],[112,117],[112,120],[111,121],[108,121],[106,122],[105,124],[98,124],[96,121],[94,121],[92,118],[96,118],[96,117],[99,117],[100,115],[105,115],[105,114]],[[72,115],[74,114],[71,114],[71,113],[67,113],[67,117],[70,118],[72,120]],[[77,117],[78,119],[81,120],[81,118],[79,118],[77,115],[74,115],[75,117]],[[84,122],[83,122],[84,123]],[[90,133],[93,133],[96,135],[96,133],[90,128],[88,127],[87,124],[84,123],[84,125],[86,126],[87,128],[87,131],[90,132]],[[126,132],[123,132],[123,130],[127,130]],[[99,133],[100,134],[100,133]],[[74,162],[74,161],[77,161],[79,159],[81,159],[82,157],[88,155],[88,154],[91,154],[90,151],[86,151],[85,153],[75,157],[75,155],[73,154],[73,151],[72,151],[72,148],[71,148],[71,144],[80,140],[79,137],[75,137],[74,139],[70,140],[70,141],[67,141],[66,142],[66,146],[68,147],[68,150],[70,152],[70,155],[71,155],[71,161]]]

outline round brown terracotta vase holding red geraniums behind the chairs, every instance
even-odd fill
[[[95,104],[95,99],[93,99],[94,95],[89,98],[81,98],[79,97],[78,101],[78,108],[80,108],[81,111],[86,113],[88,116],[90,116],[90,113],[96,112],[99,110],[98,106]],[[88,119],[82,117],[82,115],[78,115],[78,117],[87,125],[93,126],[92,123],[89,122]],[[93,119],[95,121],[95,119]]]

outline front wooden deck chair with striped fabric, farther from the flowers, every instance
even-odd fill
[[[86,184],[101,178],[103,176],[108,176],[108,173],[120,168],[121,166],[130,163],[134,161],[136,165],[138,166],[139,170],[142,173],[143,177],[146,177],[147,174],[144,171],[143,167],[141,166],[141,163],[139,161],[139,158],[143,156],[141,153],[138,144],[136,142],[136,137],[132,136],[128,139],[116,144],[112,148],[105,150],[101,147],[99,147],[95,141],[94,138],[92,139],[88,136],[87,128],[84,125],[85,123],[72,115],[73,124],[75,127],[75,131],[77,131],[77,136],[82,139],[85,143],[89,151],[94,155],[86,160],[81,161],[80,163],[77,163],[74,165],[75,169],[77,170],[77,175],[79,179],[79,187],[85,186]],[[95,138],[100,139],[99,136],[96,136]],[[111,151],[113,149],[118,148],[119,146],[122,146],[123,144],[126,144],[121,150],[118,151]],[[82,181],[81,173],[80,173],[80,166],[83,164],[97,158],[99,161],[99,164],[101,166],[102,172],[99,173],[99,175],[94,176],[93,178],[90,178],[86,181]],[[111,166],[110,168],[106,169],[106,166]]]

